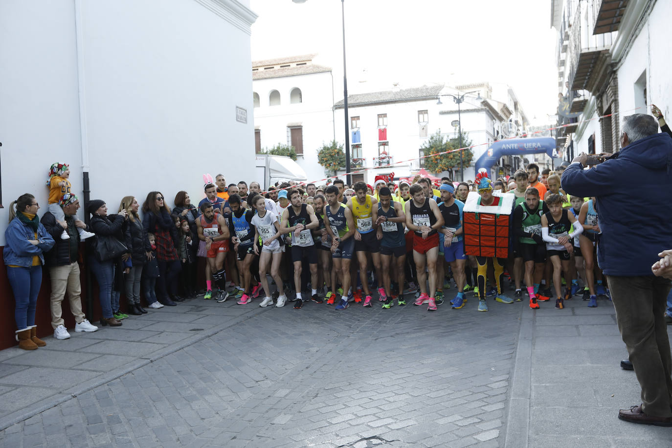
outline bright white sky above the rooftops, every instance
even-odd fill
[[[342,99],[341,1],[250,3],[259,15],[252,59],[317,53],[314,62],[333,68]],[[550,0],[345,0],[351,94],[392,83],[503,83],[513,87],[533,124],[545,124],[557,106],[555,42]]]

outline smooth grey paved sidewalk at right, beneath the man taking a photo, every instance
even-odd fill
[[[580,297],[525,310],[515,359],[506,447],[672,447],[672,428],[618,420],[640,404],[612,302]],[[672,337],[672,326],[667,326]]]

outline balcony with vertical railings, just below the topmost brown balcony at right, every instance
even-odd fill
[[[574,14],[569,36],[569,85],[573,90],[596,93],[599,83],[607,81],[603,76],[609,69],[609,50],[616,32],[592,34],[593,9],[599,0],[581,1]]]

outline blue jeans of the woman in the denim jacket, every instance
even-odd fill
[[[42,265],[32,267],[7,267],[7,277],[14,293],[14,320],[17,330],[35,324],[35,308],[42,285]]]

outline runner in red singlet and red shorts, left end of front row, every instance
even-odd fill
[[[206,261],[210,268],[206,272],[204,299],[212,298],[212,280],[210,280],[210,273],[212,273],[212,279],[216,281],[219,287],[217,302],[224,302],[228,298],[224,259],[226,259],[226,253],[228,253],[228,238],[230,236],[226,220],[224,220],[222,214],[214,212],[212,204],[206,202],[201,206],[201,216],[196,219],[196,228],[198,229],[198,239],[206,244]]]

